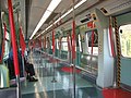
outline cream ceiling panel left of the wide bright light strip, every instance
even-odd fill
[[[27,38],[31,37],[51,0],[33,0],[28,16]]]

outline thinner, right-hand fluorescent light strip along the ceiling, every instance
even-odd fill
[[[76,9],[76,8],[79,8],[80,5],[82,5],[84,2],[86,2],[87,0],[81,0],[76,5],[74,5],[74,9]],[[71,12],[73,11],[73,8],[71,8],[67,13],[64,13],[61,17],[59,17],[57,21],[55,21],[55,23],[53,24],[56,24],[57,22],[59,22],[61,19],[63,19],[63,17],[66,17],[68,14],[70,14]],[[47,28],[46,28],[46,30],[48,29],[48,28],[50,28],[52,26],[52,24],[51,25],[49,25]],[[41,32],[38,36],[40,36],[43,33],[45,33],[46,30],[44,30],[44,32]],[[37,37],[38,37],[37,36]]]

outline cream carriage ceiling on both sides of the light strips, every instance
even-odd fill
[[[8,0],[0,0],[2,9],[8,12]],[[19,11],[19,20],[20,24],[23,27],[23,34],[25,35],[25,39],[29,39],[34,29],[36,28],[38,22],[40,21],[44,12],[49,5],[51,0],[12,0],[13,7],[15,9],[20,9]],[[74,0],[74,4],[80,2],[81,0]],[[93,2],[99,0],[86,0],[84,4],[82,4],[78,10],[75,10],[75,14],[81,13],[83,10],[87,9]],[[20,2],[17,4],[17,2]],[[73,5],[72,0],[61,0],[60,4],[55,9],[51,15],[46,20],[46,22],[38,29],[36,35],[41,33],[47,26],[52,24],[57,19],[59,19],[62,14],[64,14],[68,10],[70,10]],[[17,12],[14,13],[14,20],[17,21]],[[62,19],[62,22],[70,20],[73,16],[70,13],[68,16]],[[70,26],[70,25],[69,25]]]

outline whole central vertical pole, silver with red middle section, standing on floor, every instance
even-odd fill
[[[75,98],[75,13],[73,2],[73,22],[72,22],[72,64],[73,64],[73,98]]]

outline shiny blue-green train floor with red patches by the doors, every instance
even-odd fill
[[[22,82],[22,98],[131,98],[123,89],[102,89],[88,82],[75,71],[75,90],[73,73],[60,62],[50,61],[39,53],[31,53],[38,82]],[[75,96],[74,96],[75,93]]]

